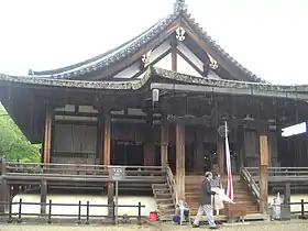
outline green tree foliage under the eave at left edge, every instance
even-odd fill
[[[9,162],[40,162],[41,145],[31,144],[0,105],[0,157]]]

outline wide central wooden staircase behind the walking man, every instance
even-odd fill
[[[197,215],[199,191],[204,179],[205,176],[186,176],[185,178],[186,201],[191,209],[191,216]],[[223,186],[227,185],[227,179],[222,179],[221,182]],[[260,212],[255,197],[240,176],[233,176],[233,191],[234,202],[245,205],[248,215]],[[224,215],[224,210],[220,210],[219,215]]]

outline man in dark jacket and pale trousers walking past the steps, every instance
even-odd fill
[[[195,221],[193,223],[193,228],[200,227],[199,222],[202,218],[202,215],[206,213],[210,229],[218,229],[218,226],[215,223],[213,215],[212,215],[212,206],[211,206],[211,196],[216,195],[215,191],[211,190],[211,179],[212,173],[206,173],[206,179],[202,182],[200,196],[199,196],[199,209]]]

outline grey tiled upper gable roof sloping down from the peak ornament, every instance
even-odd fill
[[[88,73],[102,69],[113,65],[118,62],[131,57],[133,54],[138,53],[142,47],[144,47],[150,41],[157,37],[164,30],[166,30],[177,18],[185,20],[198,35],[207,43],[207,45],[224,61],[224,63],[232,69],[237,76],[241,76],[241,79],[248,81],[256,82],[267,82],[264,79],[257,77],[255,74],[243,67],[239,62],[237,62],[230,54],[228,54],[221,46],[219,46],[215,40],[211,38],[199,26],[199,24],[191,18],[191,14],[187,12],[185,0],[177,0],[174,6],[174,12],[166,18],[160,20],[152,28],[130,40],[129,42],[110,50],[101,55],[89,58],[87,61],[74,64],[70,66],[43,70],[43,72],[32,72],[30,75],[37,77],[47,77],[56,79],[75,79],[78,76],[86,75]]]

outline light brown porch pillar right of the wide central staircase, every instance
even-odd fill
[[[260,212],[267,212],[268,198],[268,139],[260,135]]]

